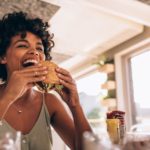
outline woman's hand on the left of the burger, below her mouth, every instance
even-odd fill
[[[9,95],[12,101],[20,98],[35,82],[43,81],[47,74],[47,68],[41,65],[31,66],[12,72],[8,78],[3,97]],[[6,94],[6,95],[5,95]]]

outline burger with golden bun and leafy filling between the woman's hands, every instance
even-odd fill
[[[56,74],[55,69],[58,67],[54,62],[52,61],[41,61],[40,62],[42,66],[48,67],[48,74],[46,76],[46,79],[40,82],[35,83],[37,88],[42,92],[49,92],[52,89],[56,89],[58,91],[62,90],[63,85],[59,83],[59,78]]]

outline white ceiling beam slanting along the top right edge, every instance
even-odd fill
[[[114,16],[150,26],[150,6],[136,0],[44,0],[61,7],[87,5]]]

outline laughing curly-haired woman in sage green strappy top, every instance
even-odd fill
[[[41,19],[23,12],[7,14],[0,20],[0,78],[4,81],[0,86],[0,136],[21,131],[22,150],[51,150],[51,124],[71,150],[81,150],[82,134],[91,128],[70,73],[56,69],[64,86],[60,95],[72,117],[55,95],[33,88],[48,72],[39,63],[51,59],[54,43],[48,27]],[[26,61],[35,65],[24,67]]]

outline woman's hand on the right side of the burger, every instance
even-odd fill
[[[76,83],[70,73],[63,68],[56,68],[60,84],[64,86],[61,91],[58,91],[62,99],[68,104],[69,107],[79,105],[79,96]]]

